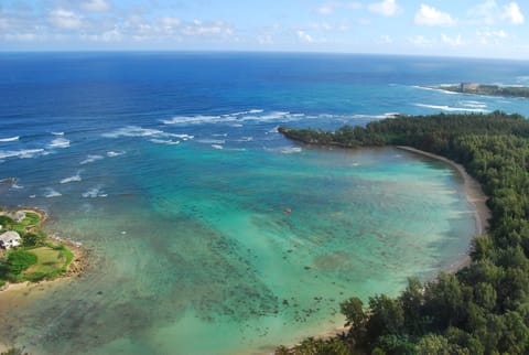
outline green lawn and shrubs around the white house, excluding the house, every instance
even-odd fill
[[[41,229],[41,216],[25,212],[17,223],[7,215],[0,215],[2,233],[14,230],[21,235],[22,246],[0,254],[0,287],[9,282],[40,281],[53,279],[67,271],[74,255],[63,245],[48,241]]]

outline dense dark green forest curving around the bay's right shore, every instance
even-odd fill
[[[360,127],[280,131],[313,144],[410,146],[462,163],[489,196],[488,234],[472,263],[398,298],[356,297],[341,311],[348,331],[277,354],[529,354],[529,120],[519,115],[400,116]]]

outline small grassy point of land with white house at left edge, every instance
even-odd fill
[[[0,290],[80,272],[83,250],[48,236],[46,214],[33,208],[0,211]]]

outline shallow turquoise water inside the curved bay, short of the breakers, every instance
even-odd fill
[[[141,193],[48,205],[48,229],[83,243],[93,266],[9,312],[17,343],[39,354],[273,348],[341,326],[348,295],[396,294],[408,277],[447,269],[475,230],[457,173],[396,149],[141,154],[155,154],[149,183],[130,180]]]

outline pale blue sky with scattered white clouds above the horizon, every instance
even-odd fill
[[[0,51],[529,58],[529,1],[0,0]]]

